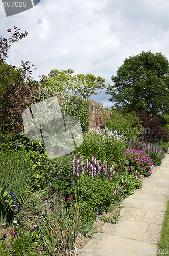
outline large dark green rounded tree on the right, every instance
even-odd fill
[[[106,94],[124,111],[153,115],[168,110],[169,62],[161,53],[142,52],[124,60]]]

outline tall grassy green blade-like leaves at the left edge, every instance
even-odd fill
[[[10,200],[9,198],[6,198],[6,200],[9,201],[9,203],[6,201],[7,205],[11,210],[11,204],[14,204],[14,200],[13,202],[11,200],[16,198],[15,209],[22,207],[25,199],[30,196],[32,186],[34,185],[32,184],[33,177],[30,173],[32,161],[29,159],[29,155],[24,150],[11,154],[0,152],[0,165],[0,186],[3,188],[3,192],[10,191],[11,194],[14,194],[13,198]],[[10,197],[10,195],[6,195],[6,197],[7,196]],[[12,221],[13,219],[14,212],[5,208],[7,205],[4,205],[2,202],[1,216],[4,216],[4,221],[9,223],[9,221]],[[8,210],[11,212],[9,221],[8,214],[6,214]]]

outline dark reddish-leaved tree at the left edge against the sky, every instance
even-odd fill
[[[30,103],[32,86],[37,84],[30,76],[35,65],[21,61],[21,67],[17,68],[5,62],[11,45],[28,35],[19,30],[17,27],[14,32],[8,29],[11,36],[8,39],[0,37],[0,131],[3,132],[14,129],[15,116]]]

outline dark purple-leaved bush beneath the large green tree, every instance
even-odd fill
[[[168,133],[162,126],[159,116],[152,116],[147,114],[144,110],[136,114],[139,120],[142,122],[142,126],[145,128],[145,132],[142,134],[144,142],[158,142],[159,140],[168,141]]]

